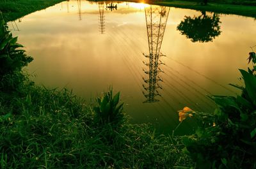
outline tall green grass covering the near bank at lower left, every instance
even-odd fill
[[[6,100],[8,98],[9,100]],[[173,168],[189,166],[182,144],[148,124],[93,122],[92,105],[66,89],[31,84],[0,92],[1,168]],[[127,118],[126,116],[124,118]]]

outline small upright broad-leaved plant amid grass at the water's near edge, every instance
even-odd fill
[[[122,121],[123,114],[123,105],[124,103],[119,103],[120,92],[116,93],[113,96],[113,90],[104,92],[103,96],[97,98],[97,107],[95,110],[95,119],[101,124],[108,123],[119,123]]]

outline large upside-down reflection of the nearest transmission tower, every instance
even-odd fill
[[[159,101],[155,98],[156,96],[160,96],[157,89],[162,89],[160,85],[157,84],[157,82],[163,81],[158,76],[159,72],[161,72],[159,65],[162,64],[162,62],[159,61],[159,57],[163,56],[163,54],[160,52],[160,49],[169,11],[170,7],[164,6],[150,5],[150,7],[145,8],[149,55],[144,55],[149,59],[149,62],[144,63],[149,67],[149,70],[145,71],[145,73],[148,75],[148,78],[143,78],[144,82],[147,84],[143,84],[143,88],[146,90],[146,92],[143,92],[143,94],[147,98],[144,103]]]

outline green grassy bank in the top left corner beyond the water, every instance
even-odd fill
[[[11,21],[64,0],[1,0],[0,11],[4,20]]]

